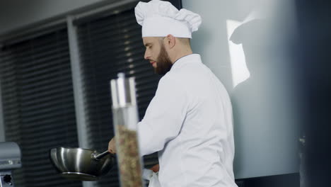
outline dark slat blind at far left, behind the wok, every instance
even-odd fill
[[[66,28],[4,45],[0,79],[6,141],[22,151],[15,186],[81,186],[57,174],[48,151],[78,147]]]

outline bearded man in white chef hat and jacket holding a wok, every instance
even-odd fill
[[[140,154],[158,152],[162,187],[236,186],[231,101],[190,47],[201,17],[158,0],[139,2],[135,14],[144,58],[164,74],[138,124]],[[115,139],[108,150],[116,152]]]

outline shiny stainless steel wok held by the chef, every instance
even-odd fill
[[[71,147],[50,149],[50,160],[62,176],[80,181],[96,181],[115,164],[109,152]]]

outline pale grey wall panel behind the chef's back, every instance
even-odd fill
[[[294,31],[289,29],[292,3],[182,0],[183,8],[202,16],[201,28],[192,35],[193,51],[231,94],[236,179],[298,172],[294,69],[283,50]],[[248,15],[262,21],[248,22]],[[236,35],[240,44],[229,40],[238,26],[243,28]]]

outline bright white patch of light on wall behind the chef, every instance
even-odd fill
[[[245,55],[243,52],[243,46],[237,45],[230,41],[230,37],[233,31],[242,23],[239,21],[227,20],[226,30],[228,34],[228,50],[230,52],[231,72],[233,80],[233,88],[235,88],[240,82],[245,81],[250,77],[250,72],[246,66]]]

